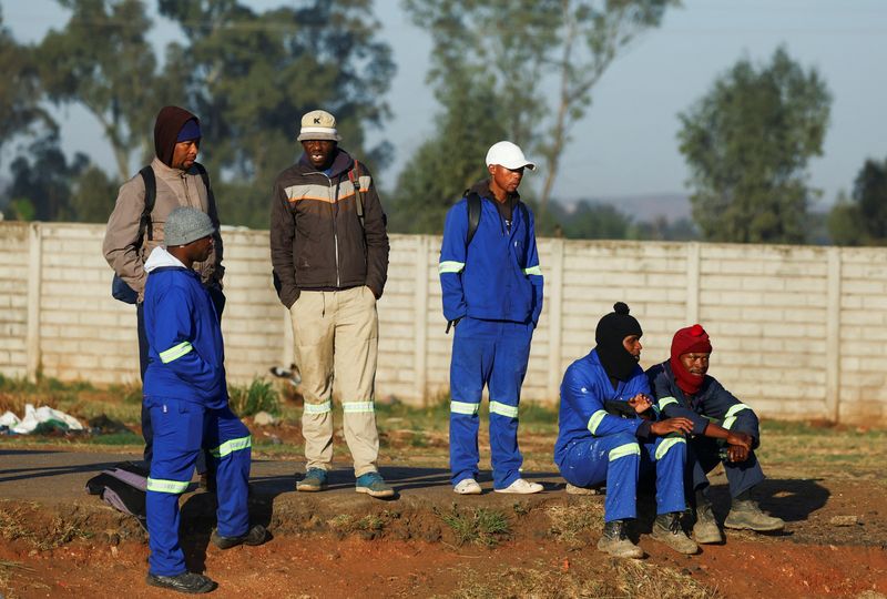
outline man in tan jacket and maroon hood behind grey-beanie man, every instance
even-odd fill
[[[222,314],[225,296],[222,294],[222,237],[218,234],[218,215],[212,192],[204,185],[203,166],[197,164],[201,143],[200,120],[179,106],[164,106],[154,123],[154,151],[151,162],[155,182],[154,207],[151,220],[142,232],[141,219],[145,207],[145,181],[136,174],[120,187],[114,211],[108,220],[102,252],[116,275],[129,285],[137,301],[135,306],[139,332],[139,363],[142,379],[147,368],[147,337],[145,336],[144,298],[145,260],[151,251],[163,245],[163,227],[166,216],[179,206],[191,206],[210,215],[216,233],[214,248],[204,262],[194,263],[203,284],[210,290],[216,312]],[[205,173],[205,171],[204,171]],[[142,435],[145,438],[145,463],[151,464],[152,427],[151,415],[142,409]],[[203,459],[198,459],[197,471],[205,471]]]

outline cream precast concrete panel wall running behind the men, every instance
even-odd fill
[[[103,225],[0,223],[0,373],[136,380],[135,308],[111,297]],[[292,362],[268,233],[223,227],[226,367],[232,383]],[[540,240],[542,317],[523,386],[555,400],[563,370],[626,302],[644,329],[642,365],[679,327],[712,335],[711,374],[767,417],[887,424],[887,252],[786,245]],[[440,311],[440,238],[391,235],[379,301],[378,397],[446,393],[451,335]]]

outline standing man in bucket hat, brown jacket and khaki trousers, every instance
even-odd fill
[[[336,119],[302,119],[305,153],[277,175],[271,209],[271,258],[289,309],[305,410],[305,476],[299,491],[326,487],[333,460],[333,383],[340,396],[356,490],[391,497],[378,473],[374,408],[378,351],[376,301],[388,274],[388,234],[373,177],[338,148]]]

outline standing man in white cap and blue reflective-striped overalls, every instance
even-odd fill
[[[487,152],[490,177],[468,190],[447,213],[440,248],[440,286],[447,331],[455,326],[450,363],[450,470],[453,491],[481,493],[478,410],[490,394],[493,489],[539,493],[520,476],[518,404],[530,341],[542,312],[542,271],[530,209],[518,186],[536,170],[516,144]]]

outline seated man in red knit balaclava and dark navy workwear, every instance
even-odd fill
[[[764,480],[754,453],[761,443],[757,416],[706,375],[711,354],[708,334],[696,324],[677,331],[672,339],[671,357],[646,372],[662,416],[683,417],[693,423],[686,467],[689,484],[695,491],[693,534],[697,542],[724,540],[706,496],[706,473],[718,461],[724,464],[732,497],[724,526],[757,531],[782,530],[785,522],[761,511],[751,497],[752,489]]]

